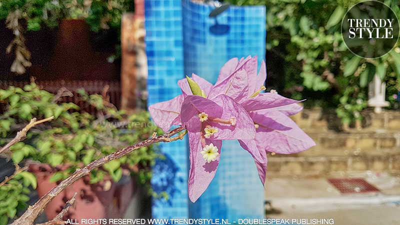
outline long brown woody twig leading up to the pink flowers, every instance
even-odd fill
[[[47,192],[44,196],[42,196],[34,205],[29,206],[26,211],[11,225],[31,225],[35,218],[44,210],[44,208],[47,206],[47,204],[55,197],[57,194],[59,194],[63,189],[65,189],[67,186],[71,185],[73,182],[78,180],[79,178],[88,175],[91,170],[100,167],[101,165],[116,159],[120,158],[133,150],[136,150],[140,147],[148,146],[153,143],[157,142],[169,142],[171,140],[175,140],[176,138],[172,137],[173,135],[179,133],[180,131],[183,131],[183,127],[177,127],[175,129],[170,130],[169,132],[166,132],[162,135],[159,136],[151,136],[150,138],[146,140],[139,141],[133,145],[127,146],[125,148],[122,148],[120,150],[117,150],[111,154],[108,154],[106,156],[103,156],[97,160],[94,160],[84,166],[83,168],[76,169],[74,173],[72,173],[70,176],[68,176],[66,179],[62,180],[56,187],[52,188],[50,191]],[[183,134],[178,135],[179,138],[177,139],[182,139]]]

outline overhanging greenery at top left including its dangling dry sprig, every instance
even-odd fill
[[[1,0],[0,20],[14,33],[6,51],[15,54],[10,68],[22,74],[30,66],[30,53],[25,45],[25,30],[38,31],[45,27],[55,27],[60,19],[84,19],[95,32],[112,29],[120,33],[122,14],[133,11],[133,0]],[[112,33],[112,32],[111,32]],[[119,37],[115,36],[115,40]],[[112,62],[120,56],[120,44],[115,46]]]

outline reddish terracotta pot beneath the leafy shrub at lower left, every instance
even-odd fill
[[[56,186],[56,183],[49,181],[56,169],[48,164],[29,164],[29,171],[36,176],[36,191],[39,197]],[[69,209],[64,219],[72,218],[80,221],[82,218],[120,218],[133,195],[133,181],[130,176],[123,176],[121,181],[114,183],[110,179],[104,179],[99,183],[89,184],[89,177],[82,177],[65,188],[47,205],[44,209],[47,218],[52,219],[57,215],[75,192],[77,193],[75,206]]]

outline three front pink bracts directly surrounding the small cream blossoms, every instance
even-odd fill
[[[224,94],[212,100],[187,95],[180,115],[182,125],[189,133],[188,194],[194,202],[215,175],[221,154],[221,140],[253,139],[255,127],[245,109]],[[262,160],[260,155],[258,157]]]

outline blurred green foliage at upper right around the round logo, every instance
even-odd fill
[[[341,37],[345,12],[360,0],[229,0],[266,6],[268,80],[281,93],[307,98],[306,107],[336,108],[343,123],[362,119],[373,74],[386,82],[394,107],[400,90],[400,48],[376,59],[352,54]],[[383,0],[398,17],[398,0]],[[283,64],[275,64],[283,61]],[[283,73],[283,74],[282,74]],[[394,95],[395,96],[395,95]]]

